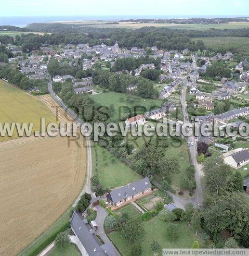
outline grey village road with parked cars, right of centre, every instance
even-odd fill
[[[182,105],[182,113],[184,114],[184,123],[189,123],[189,116],[187,112],[187,103],[186,103],[186,90],[187,86],[182,86],[182,92],[181,92],[181,105]],[[198,164],[196,160],[197,151],[195,147],[194,142],[194,136],[188,137],[188,141],[190,142],[190,156],[192,160],[192,164],[195,168],[195,182],[196,182],[196,191],[195,191],[195,205],[199,208],[201,206],[201,203],[203,201],[203,194],[202,194],[202,186],[201,186],[201,177],[203,176],[202,167],[200,164]],[[191,142],[194,143],[194,145],[191,145]]]

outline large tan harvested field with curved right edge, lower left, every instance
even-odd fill
[[[86,173],[83,137],[80,144],[68,148],[68,139],[57,136],[0,150],[1,255],[27,247],[77,197]]]

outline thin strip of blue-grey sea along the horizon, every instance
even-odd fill
[[[25,27],[30,23],[45,23],[53,21],[74,21],[74,20],[104,20],[104,21],[119,21],[122,19],[177,19],[177,18],[236,18],[239,16],[153,16],[153,15],[144,15],[144,16],[36,16],[36,17],[1,17],[0,16],[0,26],[11,25],[16,27]]]

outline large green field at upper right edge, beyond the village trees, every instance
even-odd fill
[[[249,38],[215,36],[213,38],[193,38],[192,40],[202,40],[206,47],[211,47],[213,50],[219,50],[222,47],[234,47],[238,48],[241,54],[249,54]]]

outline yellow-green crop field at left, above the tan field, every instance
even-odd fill
[[[0,120],[2,123],[34,123],[32,133],[41,131],[41,118],[46,118],[46,124],[56,122],[56,116],[49,108],[34,96],[0,80]],[[15,129],[12,137],[1,137],[0,141],[18,137]]]

